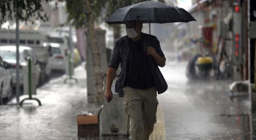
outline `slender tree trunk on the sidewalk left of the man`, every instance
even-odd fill
[[[96,31],[94,27],[94,17],[92,15],[92,10],[90,8],[90,2],[86,0],[86,21],[88,25],[88,39],[92,47],[92,61],[93,61],[93,70],[94,70],[94,102],[97,104],[103,103],[103,73],[101,67],[101,56],[100,56],[100,47],[97,42]]]

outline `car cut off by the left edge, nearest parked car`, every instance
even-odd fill
[[[3,99],[12,97],[12,75],[10,72],[12,65],[4,62],[0,57],[0,105],[3,104]]]

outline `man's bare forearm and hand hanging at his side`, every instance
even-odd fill
[[[115,68],[108,67],[107,77],[106,77],[106,91],[104,93],[104,96],[106,97],[106,100],[108,103],[113,99],[113,94],[111,91],[112,82],[116,76],[116,70]]]

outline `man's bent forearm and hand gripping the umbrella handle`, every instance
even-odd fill
[[[154,57],[156,60],[156,64],[160,67],[165,66],[166,58],[164,56],[160,56],[154,47],[148,47],[148,54]]]

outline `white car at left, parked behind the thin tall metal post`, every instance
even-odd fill
[[[20,46],[20,87],[23,87],[24,77],[28,76],[28,56],[31,58],[31,72],[35,75],[32,82],[36,82],[36,86],[39,84],[40,80],[40,66],[38,64],[36,54],[30,47]],[[0,55],[4,61],[12,64],[14,68],[11,68],[12,74],[12,86],[16,87],[16,46],[0,46]],[[26,73],[25,73],[26,72]]]

